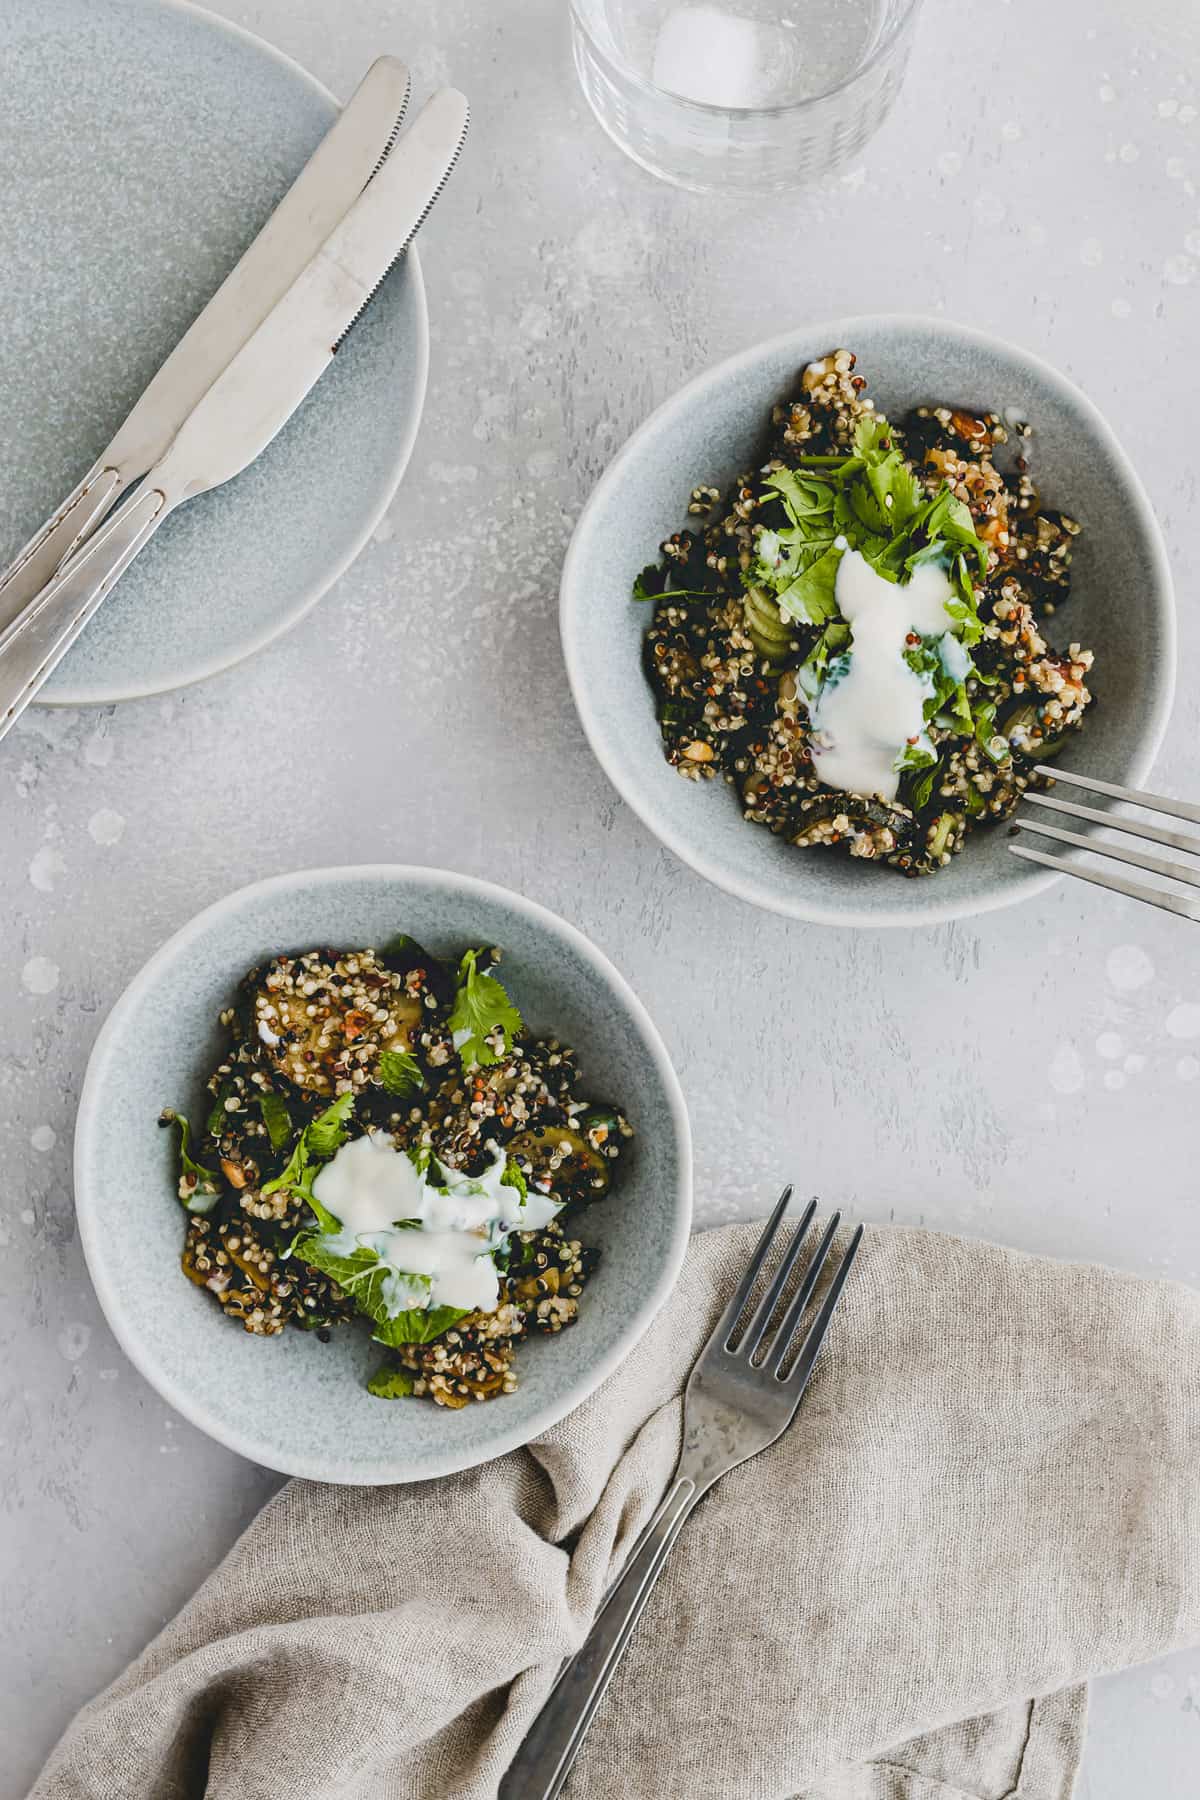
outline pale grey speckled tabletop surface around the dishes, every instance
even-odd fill
[[[928,0],[892,121],[770,230],[621,158],[574,94],[560,0],[225,11],[338,94],[381,49],[423,85],[453,76],[473,140],[423,232],[430,400],[374,544],[245,668],[38,711],[0,747],[4,1800],[273,1485],[115,1350],[70,1197],[101,1017],[255,875],[426,860],[574,918],[676,1058],[702,1222],[761,1211],[793,1175],[865,1217],[1200,1280],[1189,927],[1078,884],[927,936],[723,898],[613,799],[554,626],[590,482],[678,382],[806,315],[945,310],[1056,362],[1132,454],[1180,594],[1159,779],[1200,796],[1189,0]],[[1186,1795],[1196,1759],[1200,1654],[1099,1683],[1083,1800]]]

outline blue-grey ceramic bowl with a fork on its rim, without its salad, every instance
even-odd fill
[[[925,400],[1007,410],[1034,427],[1033,472],[1051,506],[1079,518],[1074,598],[1056,641],[1096,650],[1096,709],[1069,760],[1110,781],[1141,783],[1175,688],[1175,607],[1159,526],[1128,457],[1083,394],[1036,356],[939,319],[835,319],[732,356],[667,400],[630,437],[576,526],[561,589],[567,671],[579,718],[613,787],[678,857],[718,887],[829,925],[918,925],[986,913],[1042,893],[1058,877],[1011,857],[981,832],[936,877],[905,880],[819,850],[797,851],[741,819],[723,783],[682,781],[664,761],[640,666],[646,607],[637,571],[685,520],[702,481],[729,484],[754,466],[774,401],[806,362],[835,346],[858,353],[883,412]]]

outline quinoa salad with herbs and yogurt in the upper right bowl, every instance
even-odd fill
[[[1079,729],[1092,652],[1054,650],[1079,526],[1042,504],[1029,425],[889,423],[847,349],[774,407],[765,463],[694,488],[633,598],[666,758],[752,824],[903,875],[1007,819]]]

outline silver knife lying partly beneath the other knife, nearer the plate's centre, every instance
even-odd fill
[[[77,488],[0,574],[0,632],[58,572],[104,513],[166,454],[187,414],[381,166],[405,117],[410,76],[381,56],[194,319]]]

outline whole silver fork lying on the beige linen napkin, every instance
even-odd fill
[[[738,1336],[738,1321],[766,1262],[790,1199],[792,1186],[786,1186],[766,1220],[732,1300],[721,1312],[716,1330],[687,1379],[684,1447],[671,1487],[637,1539],[621,1577],[601,1602],[601,1611],[596,1615],[583,1645],[563,1665],[545,1706],[500,1782],[498,1800],[556,1800],[687,1517],[714,1481],[765,1451],[775,1438],[783,1436],[795,1418],[817,1352],[862,1242],[862,1226],[855,1229],[837,1264],[817,1316],[795,1345],[801,1319],[829,1258],[840,1224],[840,1213],[833,1213],[795,1294],[784,1307],[779,1327],[772,1332],[774,1316],[784,1298],[784,1289],[817,1211],[817,1202],[810,1201],[770,1287]]]

